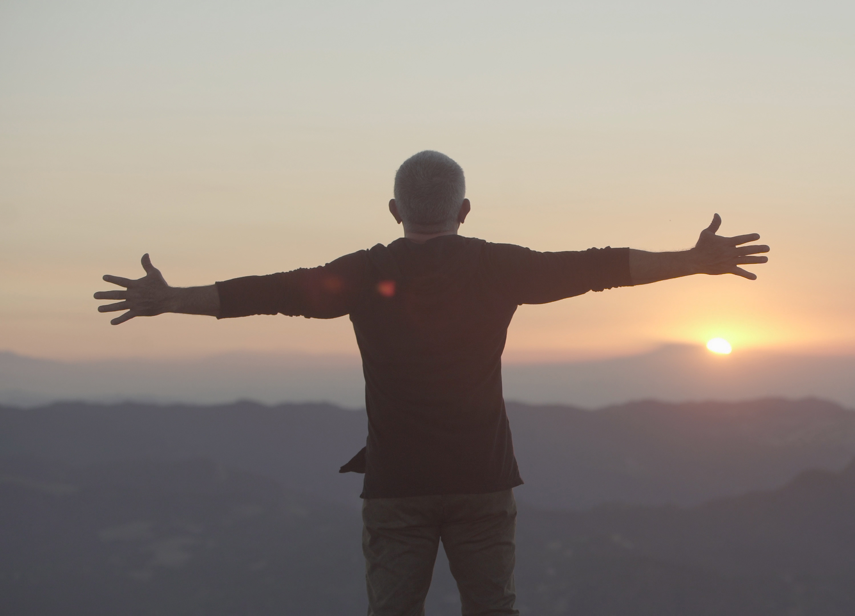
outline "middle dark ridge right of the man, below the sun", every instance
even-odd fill
[[[595,412],[510,405],[514,444],[539,507],[692,505],[766,490],[855,455],[855,413],[816,399],[632,402]]]

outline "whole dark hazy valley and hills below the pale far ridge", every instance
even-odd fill
[[[818,400],[509,405],[526,614],[848,614],[855,414]],[[365,417],[0,408],[0,611],[364,612]],[[826,470],[809,470],[826,469]],[[459,613],[440,554],[428,614]]]

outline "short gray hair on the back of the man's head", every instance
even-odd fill
[[[433,150],[410,156],[395,173],[395,202],[408,226],[453,229],[465,196],[463,168]]]

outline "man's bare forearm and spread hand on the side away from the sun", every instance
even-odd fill
[[[220,314],[220,296],[215,285],[194,286],[188,288],[171,287],[163,279],[160,270],[151,265],[149,255],[143,255],[143,278],[131,280],[121,276],[103,277],[107,282],[123,286],[126,290],[102,290],[95,299],[118,299],[121,302],[98,306],[98,312],[116,312],[127,310],[125,314],[111,320],[119,325],[137,316],[155,316],[163,313],[181,314]]]

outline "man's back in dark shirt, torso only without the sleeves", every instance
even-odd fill
[[[351,309],[369,414],[363,496],[522,484],[500,363],[516,302],[487,252],[485,242],[460,236],[368,251],[367,292]]]

